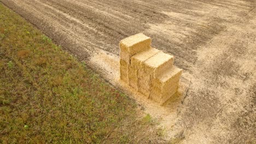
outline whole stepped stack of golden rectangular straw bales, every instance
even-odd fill
[[[151,38],[142,33],[120,41],[120,79],[160,104],[179,87],[182,69],[173,61],[173,56],[151,47]]]

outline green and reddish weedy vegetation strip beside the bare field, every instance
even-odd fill
[[[135,101],[0,3],[0,143],[158,143]]]

